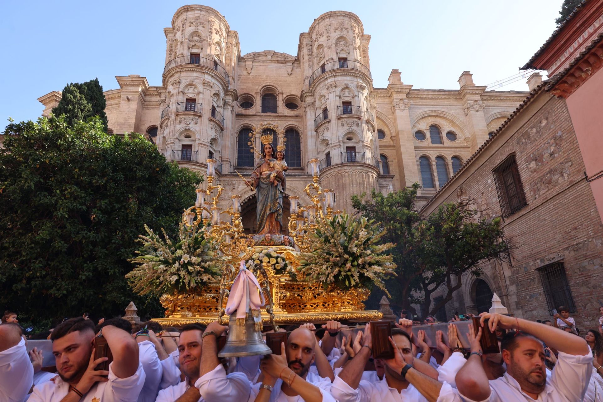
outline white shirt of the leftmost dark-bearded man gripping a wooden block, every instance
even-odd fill
[[[145,372],[138,363],[136,372],[127,378],[119,378],[113,373],[113,364],[109,365],[109,381],[95,383],[90,391],[81,398],[81,402],[136,402],[145,383]],[[69,383],[61,377],[54,382],[47,381],[36,385],[27,402],[60,402],[69,393]]]

